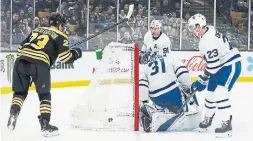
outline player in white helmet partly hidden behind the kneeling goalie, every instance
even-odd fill
[[[164,55],[171,52],[171,41],[169,37],[161,32],[162,23],[159,20],[153,20],[150,23],[150,31],[144,36],[144,44],[141,48],[142,52],[149,51],[151,47],[157,48]]]

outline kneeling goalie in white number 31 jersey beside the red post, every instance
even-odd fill
[[[162,48],[160,48],[162,50]],[[140,69],[140,117],[146,132],[184,131],[198,127],[201,111],[194,97],[180,113],[167,105],[181,107],[190,96],[191,79],[186,66],[175,56],[151,48],[147,64]],[[160,52],[161,53],[161,52]],[[184,93],[183,93],[184,91]]]

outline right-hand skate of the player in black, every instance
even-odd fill
[[[41,125],[41,131],[43,136],[51,137],[59,135],[59,130],[56,126],[50,125],[46,119],[42,119],[41,116],[38,116]]]

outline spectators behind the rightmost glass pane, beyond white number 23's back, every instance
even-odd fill
[[[239,46],[239,49],[245,48],[248,44],[248,27],[253,29],[253,1],[251,1],[251,11],[249,12],[249,0],[218,0],[218,16],[224,17],[223,23],[229,25],[224,27],[223,31],[230,39],[233,46]],[[249,22],[249,18],[251,21]],[[250,25],[249,25],[250,24]],[[253,34],[251,30],[251,49],[253,49]],[[240,45],[238,45],[240,44]]]

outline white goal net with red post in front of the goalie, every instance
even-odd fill
[[[138,65],[137,44],[112,42],[106,46],[87,90],[71,113],[71,125],[82,130],[137,131]]]

